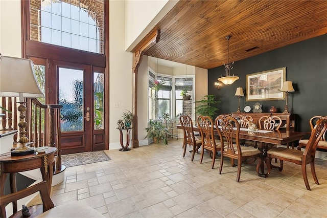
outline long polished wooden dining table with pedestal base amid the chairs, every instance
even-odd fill
[[[176,125],[178,129],[183,129],[181,125]],[[199,127],[197,125],[193,126],[193,130],[195,132],[199,132]],[[218,134],[216,128],[215,132]],[[259,142],[257,143],[258,149],[261,150],[262,154],[260,158],[258,158],[258,164],[256,167],[256,172],[259,176],[267,177],[267,173],[264,172],[264,162],[267,161],[266,155],[269,147],[268,144],[275,145],[287,145],[291,144],[292,148],[294,148],[294,143],[300,139],[302,139],[307,132],[295,132],[292,130],[251,130],[248,128],[240,128],[240,139],[251,140]],[[183,146],[185,145],[185,141],[183,141]],[[290,148],[291,149],[291,148]]]

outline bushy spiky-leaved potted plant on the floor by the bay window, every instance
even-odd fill
[[[147,128],[147,135],[146,138],[152,138],[154,143],[160,143],[161,140],[164,140],[164,144],[168,144],[167,136],[170,136],[171,133],[169,132],[168,128],[163,126],[158,121],[149,121],[149,125]]]

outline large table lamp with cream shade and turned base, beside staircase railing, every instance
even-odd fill
[[[11,152],[12,156],[34,154],[33,147],[26,146],[27,122],[24,98],[44,98],[35,77],[34,64],[30,59],[0,55],[0,96],[19,97],[19,143]]]

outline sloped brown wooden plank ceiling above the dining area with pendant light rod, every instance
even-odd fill
[[[145,55],[212,69],[227,63],[227,35],[232,62],[326,34],[327,1],[179,1],[156,29]]]

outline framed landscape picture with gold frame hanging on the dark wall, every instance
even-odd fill
[[[246,100],[281,100],[286,79],[286,67],[246,75]]]

